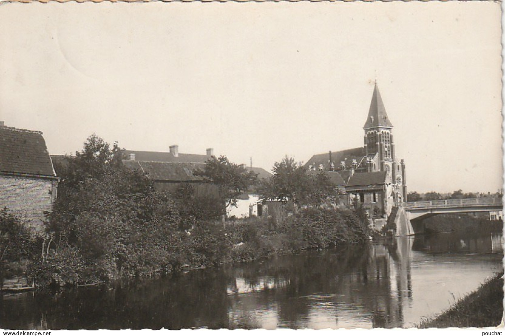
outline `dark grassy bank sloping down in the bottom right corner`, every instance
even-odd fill
[[[489,327],[503,316],[503,272],[495,274],[449,310],[423,321],[420,328]]]

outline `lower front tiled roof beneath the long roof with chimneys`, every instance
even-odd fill
[[[201,181],[203,178],[193,175],[195,169],[203,169],[202,163],[188,162],[148,162],[123,160],[123,164],[130,169],[140,169],[151,180],[155,181]]]

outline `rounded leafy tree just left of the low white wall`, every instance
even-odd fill
[[[231,163],[225,156],[211,157],[205,167],[195,170],[194,174],[218,187],[223,210],[230,205],[236,206],[238,196],[258,183],[258,174],[247,171],[243,165]]]

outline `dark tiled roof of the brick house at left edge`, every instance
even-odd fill
[[[0,126],[0,172],[56,176],[42,132]]]

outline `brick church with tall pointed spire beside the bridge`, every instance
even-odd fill
[[[340,181],[346,204],[362,207],[372,219],[387,219],[396,204],[407,202],[405,163],[396,158],[392,129],[376,82],[363,126],[364,146],[313,155],[305,168]]]

